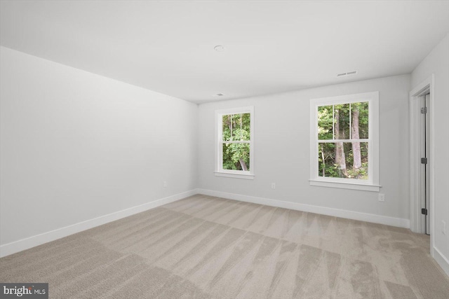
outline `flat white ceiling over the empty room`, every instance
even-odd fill
[[[449,1],[1,1],[0,8],[1,46],[196,103],[408,74],[449,32]],[[336,78],[353,70],[358,75]]]

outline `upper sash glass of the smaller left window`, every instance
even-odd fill
[[[250,113],[222,116],[223,141],[250,141]]]

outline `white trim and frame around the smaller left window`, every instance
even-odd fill
[[[223,169],[222,116],[238,113],[250,113],[250,170],[248,172],[243,170]],[[234,179],[254,179],[254,106],[216,110],[215,135],[215,176],[224,176]]]

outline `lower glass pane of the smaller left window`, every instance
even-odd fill
[[[223,144],[223,169],[250,170],[250,144]]]

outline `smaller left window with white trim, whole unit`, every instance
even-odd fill
[[[216,111],[215,175],[254,179],[254,108]]]

